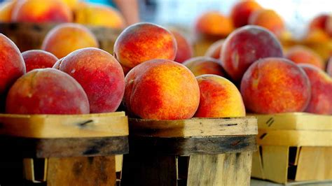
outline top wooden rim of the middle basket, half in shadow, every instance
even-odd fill
[[[190,120],[129,119],[130,134],[148,137],[234,136],[257,134],[256,117],[192,118]]]

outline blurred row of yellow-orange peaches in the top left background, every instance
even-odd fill
[[[125,27],[118,10],[79,0],[7,0],[0,3],[0,22],[76,22],[113,29]]]

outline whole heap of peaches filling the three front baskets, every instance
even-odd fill
[[[81,24],[54,27],[41,50],[22,54],[0,34],[1,108],[13,114],[124,109],[155,120],[243,117],[246,109],[332,114],[332,61],[328,75],[324,62],[303,48],[284,55],[277,36],[258,25],[239,27],[215,46],[207,51],[213,55],[192,58],[184,35],[151,23],[124,29],[113,55]]]

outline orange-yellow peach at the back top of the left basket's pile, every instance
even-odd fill
[[[81,24],[65,23],[51,29],[43,40],[42,50],[53,53],[57,58],[69,55],[80,48],[95,47],[97,38]]]

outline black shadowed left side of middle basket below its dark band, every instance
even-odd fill
[[[175,156],[125,155],[121,185],[177,185]]]

